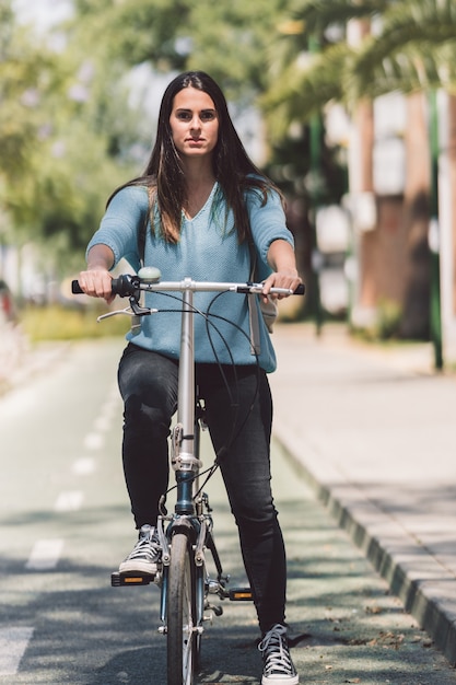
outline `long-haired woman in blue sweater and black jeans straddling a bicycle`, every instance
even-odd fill
[[[144,175],[114,193],[87,246],[87,267],[79,276],[84,292],[112,301],[109,271],[121,257],[138,268],[138,234],[144,222],[144,264],[159,267],[163,280],[191,276],[246,281],[255,251],[265,295],[273,286],[294,290],[301,283],[280,193],[249,160],[222,91],[203,72],[183,73],[167,86]],[[197,294],[198,309],[206,311],[213,295]],[[153,298],[163,298],[147,297],[150,306]],[[172,310],[168,302],[166,309]],[[178,303],[174,307],[178,311]],[[210,311],[234,321],[246,334],[218,320],[224,342],[215,358],[204,321],[195,321],[197,382],[262,635],[261,683],[294,685],[299,677],[284,625],[285,552],[270,487],[272,402],[267,373],[276,368],[274,352],[260,316],[260,347],[257,357],[253,355],[244,298],[219,298]],[[139,539],[120,571],[154,574],[161,555],[157,503],[167,487],[167,436],[177,399],[176,314],[143,317],[141,330],[127,337],[118,371],[125,403],[122,458]]]

